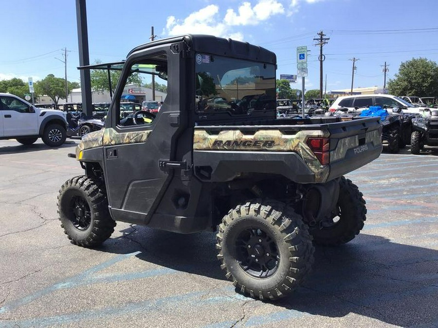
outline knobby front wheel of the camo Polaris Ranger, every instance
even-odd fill
[[[76,245],[99,245],[114,232],[116,222],[111,219],[105,191],[100,183],[85,175],[62,185],[57,205],[61,227]]]

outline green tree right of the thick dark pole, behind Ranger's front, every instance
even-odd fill
[[[94,62],[94,65],[98,65],[101,63],[102,62],[99,59],[97,59]],[[112,93],[114,93],[121,75],[122,75],[121,70],[110,70]],[[90,78],[91,78],[92,90],[100,91],[100,92],[110,91],[110,82],[108,80],[108,71],[106,69],[91,69]],[[143,81],[138,73],[132,73],[128,77],[127,84],[136,84],[141,86],[143,84]]]

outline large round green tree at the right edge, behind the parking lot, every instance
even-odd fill
[[[438,94],[438,65],[426,58],[412,58],[400,65],[387,88],[395,96],[428,97]]]

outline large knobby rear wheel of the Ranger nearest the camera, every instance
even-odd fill
[[[314,248],[301,217],[280,202],[248,202],[230,210],[217,234],[220,267],[236,290],[273,300],[310,272]]]

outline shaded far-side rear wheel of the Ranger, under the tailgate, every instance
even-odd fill
[[[322,221],[320,228],[310,231],[319,245],[336,246],[351,241],[364,227],[365,200],[351,180],[341,177],[336,213]]]

